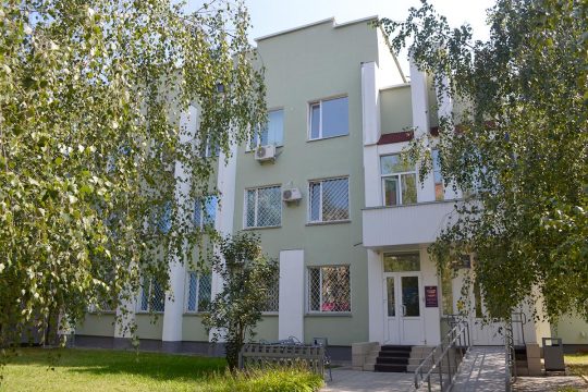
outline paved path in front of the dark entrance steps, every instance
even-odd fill
[[[407,392],[413,390],[413,373],[333,369],[333,381],[321,392]]]

